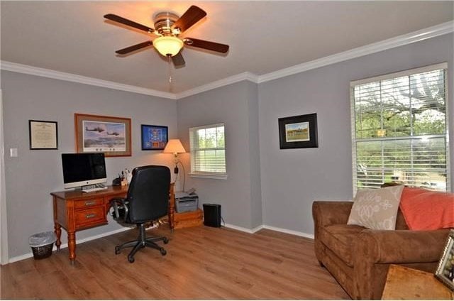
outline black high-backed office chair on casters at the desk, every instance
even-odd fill
[[[125,199],[111,199],[111,212],[114,219],[120,223],[136,224],[139,229],[138,239],[128,241],[115,247],[118,254],[123,248],[133,246],[128,255],[128,261],[134,262],[134,254],[140,249],[148,246],[156,248],[164,256],[167,251],[155,243],[163,241],[168,243],[165,236],[145,236],[145,224],[155,221],[167,214],[169,206],[170,190],[170,169],[166,166],[148,165],[134,168],[133,178],[128,188],[128,195]]]

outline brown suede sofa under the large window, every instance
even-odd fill
[[[400,209],[396,230],[347,225],[352,205],[343,201],[312,204],[316,257],[350,297],[380,299],[389,264],[436,270],[449,229],[410,231]]]

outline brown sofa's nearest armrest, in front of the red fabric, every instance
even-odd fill
[[[353,246],[353,299],[380,299],[389,264],[436,265],[448,233],[449,229],[361,231]]]

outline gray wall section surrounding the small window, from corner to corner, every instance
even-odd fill
[[[227,180],[186,178],[200,204],[221,204],[227,224],[262,224],[257,85],[239,82],[178,101],[178,136],[189,151],[189,128],[225,123]],[[182,155],[189,173],[189,153]],[[200,205],[201,206],[201,205]]]

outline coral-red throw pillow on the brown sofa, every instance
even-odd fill
[[[410,230],[454,227],[454,194],[404,187],[399,205]]]

